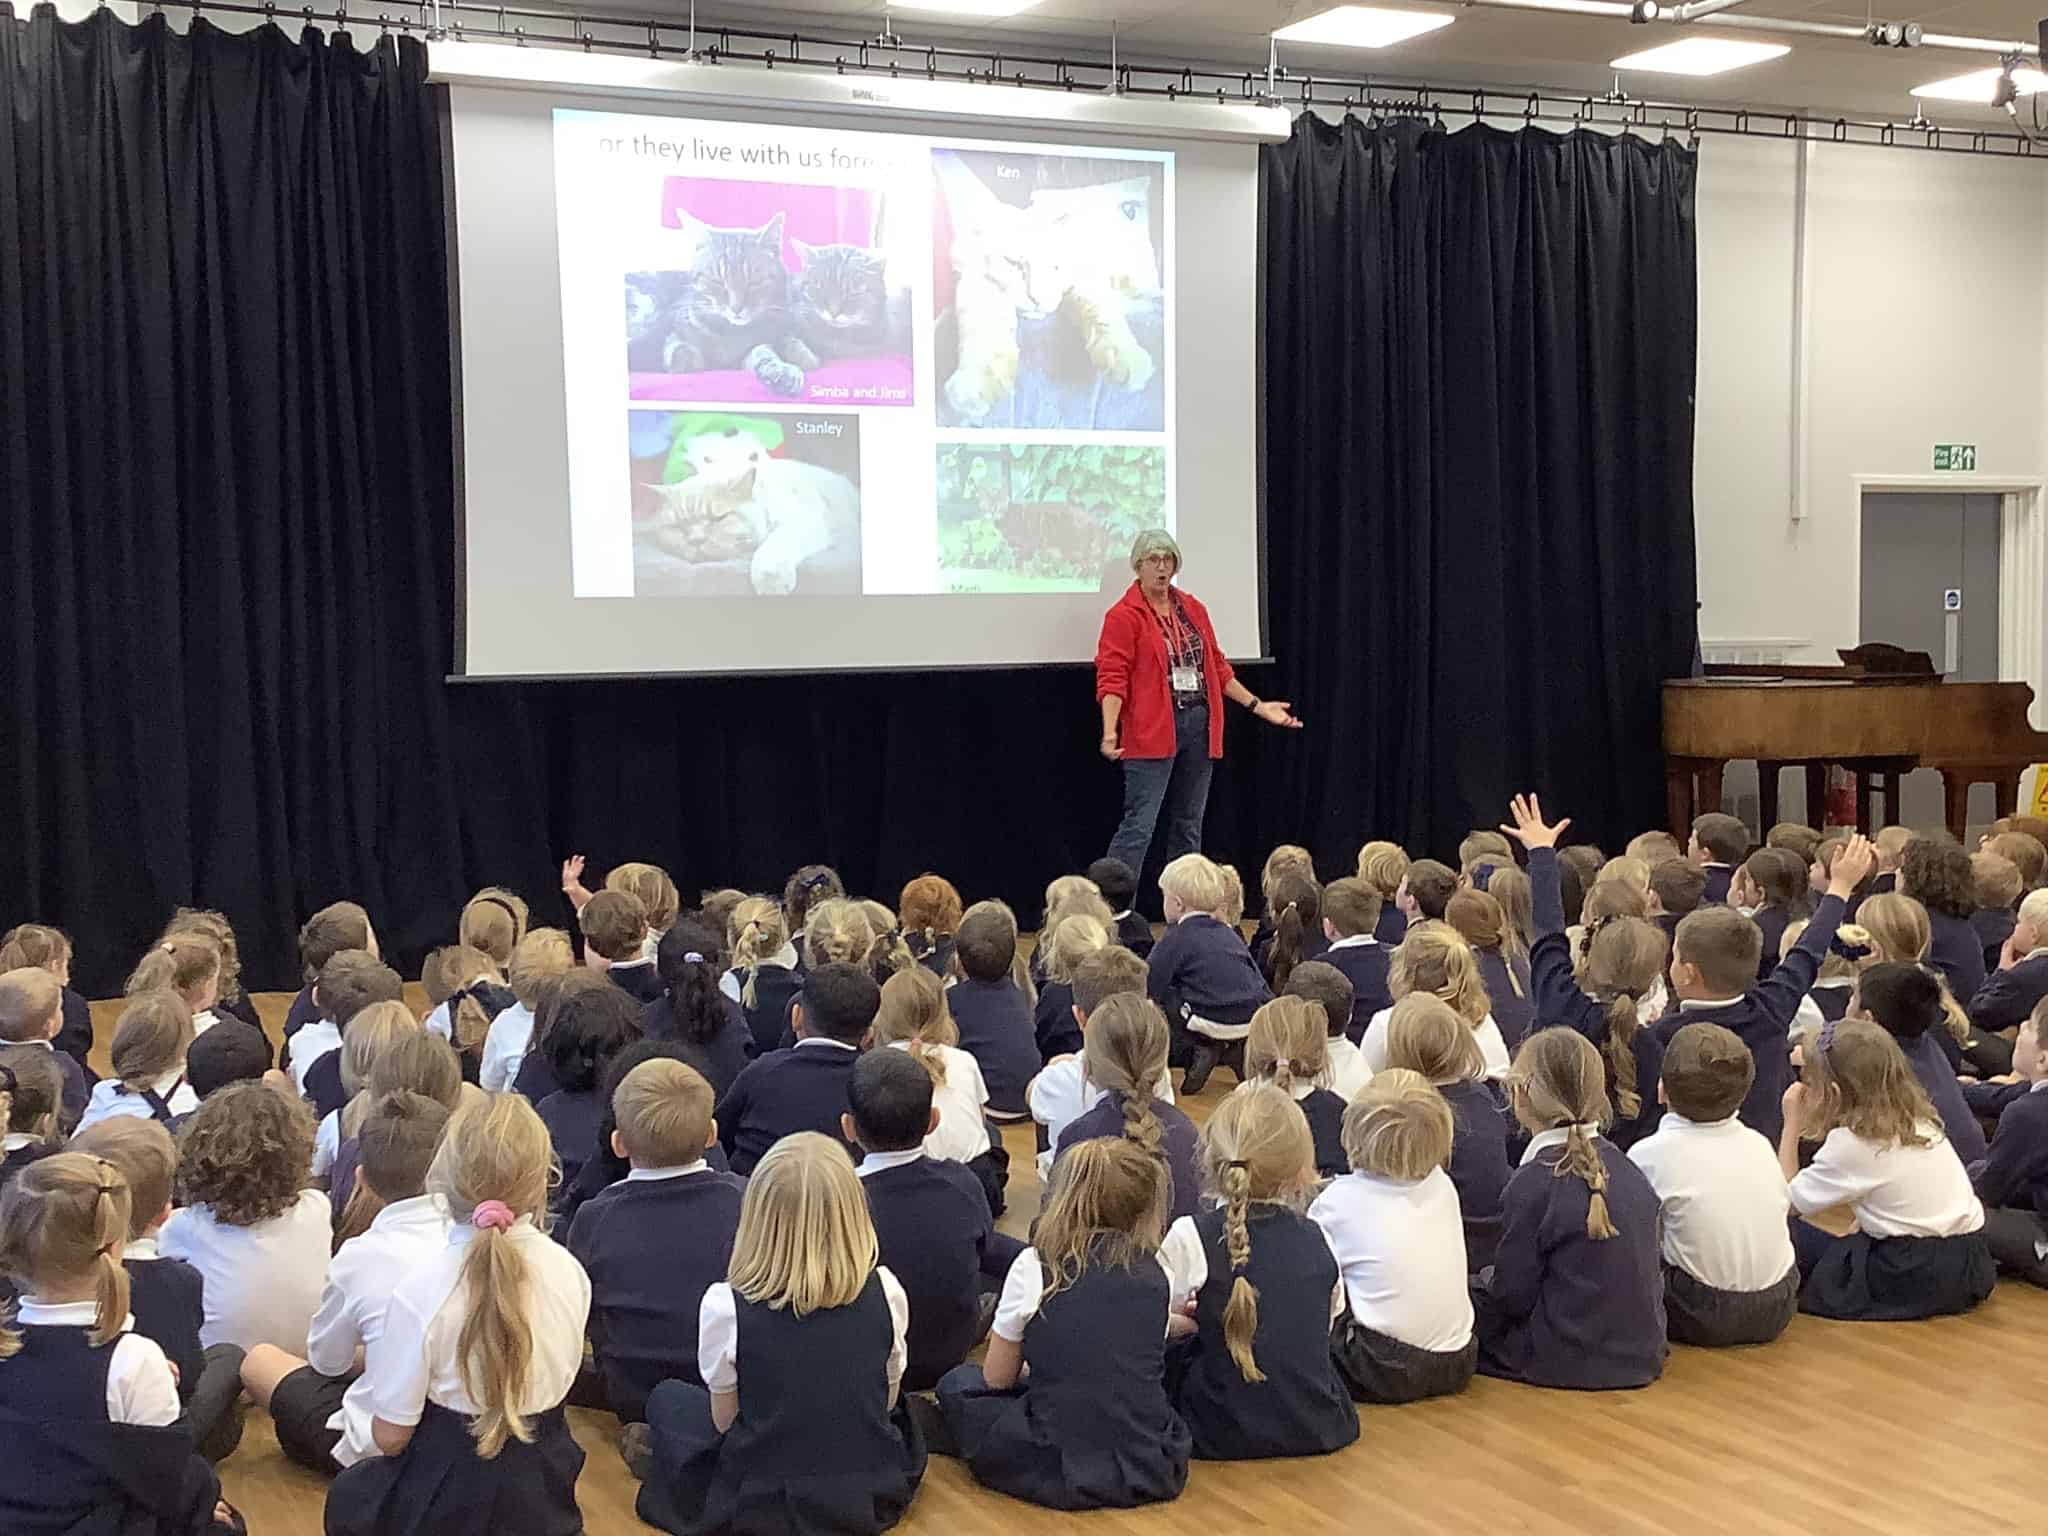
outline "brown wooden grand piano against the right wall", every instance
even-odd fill
[[[2019,776],[2048,762],[2048,733],[2028,725],[2023,682],[1944,682],[1925,651],[1862,645],[1841,666],[1706,666],[1663,686],[1665,807],[1681,842],[1702,811],[1720,809],[1729,762],[1757,764],[1763,827],[1778,821],[1778,770],[1806,770],[1806,817],[1821,825],[1827,768],[1855,774],[1855,823],[1872,829],[1872,795],[1898,817],[1898,778],[1942,774],[1948,829],[1960,840],[1970,784],[1989,782],[2013,815]]]

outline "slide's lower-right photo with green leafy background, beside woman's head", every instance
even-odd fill
[[[942,592],[1120,592],[1130,541],[1165,520],[1163,449],[938,449]]]

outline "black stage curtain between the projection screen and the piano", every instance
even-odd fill
[[[1264,172],[1272,639],[1317,731],[1266,793],[1319,866],[1366,829],[1450,858],[1524,786],[1573,840],[1661,825],[1694,154],[1305,115]]]

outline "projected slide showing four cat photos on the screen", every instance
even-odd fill
[[[578,598],[1120,590],[1171,152],[555,109]]]

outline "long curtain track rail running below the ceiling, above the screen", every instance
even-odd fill
[[[1860,143],[1888,150],[2003,156],[2042,160],[2023,133],[1935,123],[1925,117],[1874,119],[1794,106],[1661,102],[1620,92],[1585,94],[1556,86],[1438,86],[1391,76],[1319,76],[1284,68],[1229,70],[1204,63],[1133,63],[1085,53],[1034,53],[911,43],[903,37],[819,37],[797,31],[762,31],[723,23],[694,25],[649,16],[600,16],[537,6],[496,6],[481,0],[412,0],[395,10],[248,4],[248,0],[158,0],[152,10],[203,16],[209,12],[266,16],[334,27],[446,37],[455,41],[506,41],[571,47],[643,57],[698,59],[762,70],[827,70],[831,74],[883,74],[895,80],[952,80],[1018,90],[1153,96],[1186,102],[1262,102],[1272,106],[1341,109],[1370,121],[1421,119],[1436,127],[1460,123],[1569,125],[1683,139],[1702,135],[1751,139],[1808,137],[1821,143]]]

